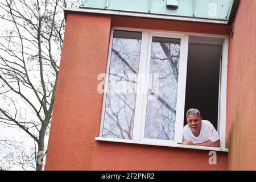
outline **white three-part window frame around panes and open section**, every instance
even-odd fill
[[[128,140],[128,139],[114,139],[114,138],[103,138],[102,137],[114,30],[142,32],[142,42],[141,42],[141,53],[140,53],[140,60],[139,60],[138,77],[141,74],[149,73],[151,45],[152,45],[153,36],[154,37],[162,37],[162,38],[180,39],[179,77],[178,77],[178,88],[177,88],[176,123],[175,123],[174,140],[160,140],[160,139],[144,138],[144,125],[146,122],[148,82],[140,81],[139,78],[138,78],[137,88],[144,88],[145,90],[143,93],[138,92],[137,96],[136,96],[135,116],[134,116],[134,126],[133,126],[133,139]],[[219,105],[218,105],[218,110],[219,110],[218,111],[218,133],[220,135],[220,140],[221,140],[220,147],[185,146],[182,144],[189,36],[204,36],[204,37],[208,36],[208,37],[224,39],[224,43],[222,45],[223,50],[222,50],[221,70],[220,70],[220,89],[219,89],[220,94],[219,94]],[[229,42],[229,37],[225,36],[225,35],[198,34],[198,33],[193,33],[193,32],[147,30],[147,29],[141,29],[141,28],[113,27],[112,31],[111,31],[111,35],[110,35],[109,56],[108,56],[108,64],[107,64],[106,76],[105,76],[105,86],[104,86],[105,90],[104,90],[104,98],[103,98],[103,104],[102,104],[100,133],[99,133],[99,137],[96,137],[96,140],[104,140],[104,141],[109,141],[109,142],[151,144],[151,145],[156,145],[156,146],[196,148],[196,149],[200,149],[200,150],[228,151],[228,149],[225,148],[228,42]]]

